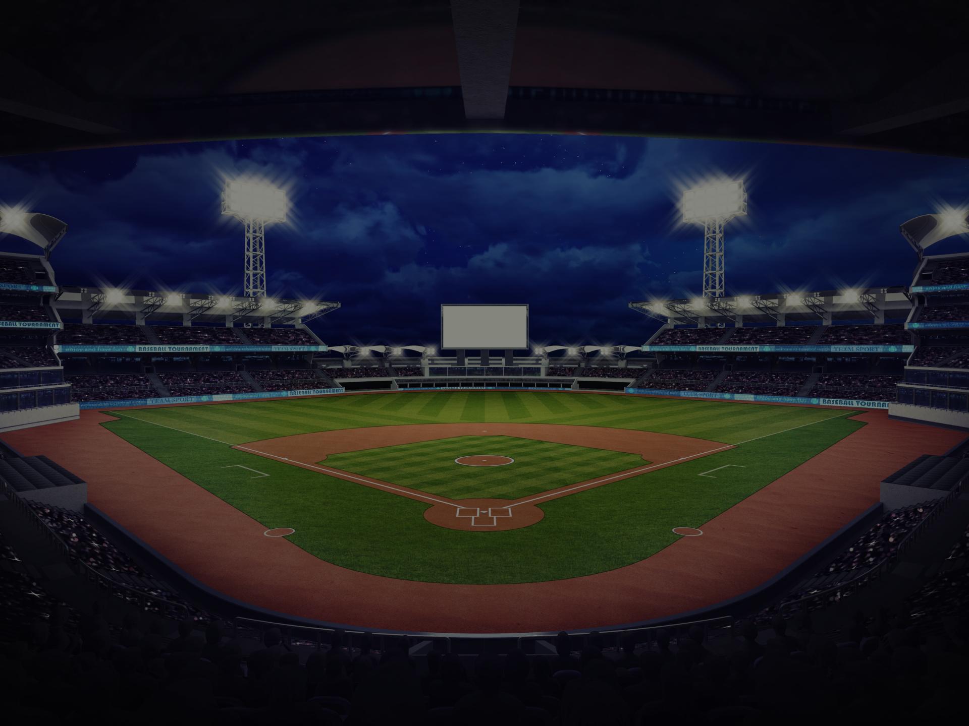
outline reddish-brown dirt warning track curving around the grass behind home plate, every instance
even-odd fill
[[[877,503],[888,474],[965,438],[893,421],[887,411],[855,419],[868,425],[709,522],[683,523],[703,536],[609,572],[521,585],[408,582],[319,560],[285,536],[264,536],[259,522],[111,434],[99,424],[113,417],[98,411],[3,438],[77,473],[92,504],[188,574],[245,602],[371,630],[516,633],[661,618],[743,594]]]

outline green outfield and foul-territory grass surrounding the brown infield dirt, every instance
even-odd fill
[[[846,418],[854,412],[568,393],[394,393],[126,409],[115,412],[118,420],[105,426],[266,529],[296,529],[288,539],[323,560],[406,580],[501,584],[577,577],[644,560],[678,539],[672,528],[703,528],[738,501],[858,430],[863,424]],[[543,502],[546,516],[541,522],[508,531],[435,527],[423,519],[424,502],[227,445],[338,428],[454,421],[598,425],[739,445]],[[501,439],[564,446],[571,450],[570,468],[581,466],[584,452],[589,451],[580,446]],[[339,457],[357,453],[363,452],[333,455],[326,464],[337,466]],[[517,464],[514,454],[506,455],[516,458]],[[616,456],[633,457],[637,464],[632,466],[643,463],[636,455]],[[407,486],[433,469],[422,462],[419,469],[402,465],[399,474],[378,476],[376,469],[369,469],[368,456],[356,461],[355,467],[366,468],[357,469],[360,473]],[[372,463],[376,466],[377,461]],[[617,470],[610,459],[609,464],[604,460],[603,470],[590,474],[595,468],[588,463],[588,469],[575,474],[577,480]],[[618,469],[631,468],[625,464]],[[718,470],[715,478],[699,476],[728,464],[735,466]],[[234,465],[269,476],[253,479],[250,471]],[[514,467],[492,470],[513,473]],[[412,483],[402,481],[401,476],[411,477],[408,481]],[[528,486],[528,482],[516,482],[516,486]],[[541,488],[549,487],[545,483]]]

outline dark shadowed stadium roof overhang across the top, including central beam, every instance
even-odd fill
[[[517,131],[969,156],[969,4],[951,0],[50,0],[4,10],[0,154]]]

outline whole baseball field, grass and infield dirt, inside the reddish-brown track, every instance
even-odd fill
[[[113,435],[266,536],[463,585],[646,560],[865,426],[836,408],[501,391],[105,413]]]

